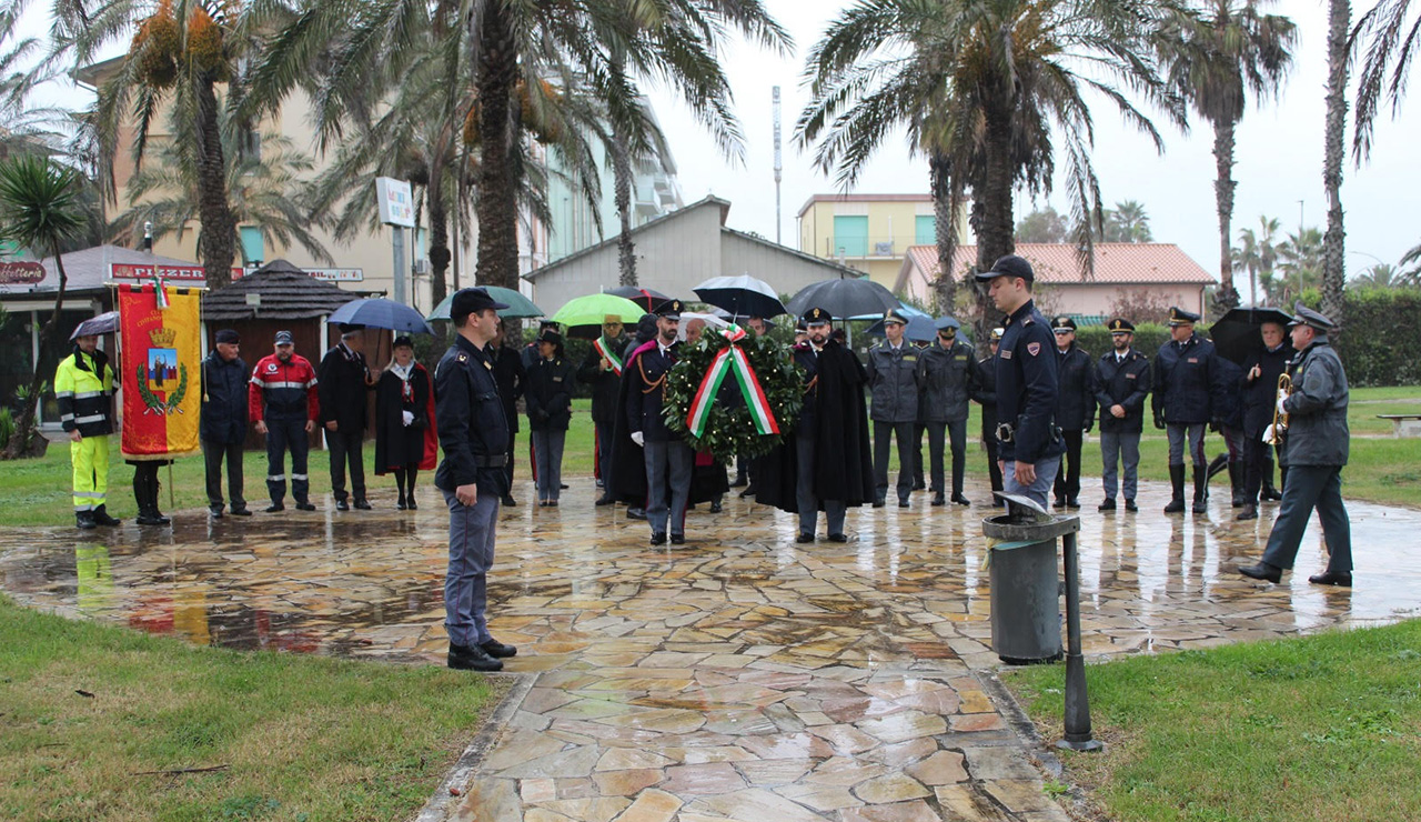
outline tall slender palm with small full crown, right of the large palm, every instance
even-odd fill
[[[1219,218],[1219,289],[1215,304],[1239,304],[1229,223],[1233,219],[1233,132],[1248,98],[1277,95],[1292,63],[1293,23],[1263,14],[1270,0],[1205,0],[1202,13],[1174,16],[1160,37],[1171,85],[1214,127],[1215,208]]]

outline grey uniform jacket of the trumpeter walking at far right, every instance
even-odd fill
[[[1293,394],[1283,401],[1287,438],[1283,465],[1347,465],[1347,374],[1341,358],[1319,334],[1289,370]]]

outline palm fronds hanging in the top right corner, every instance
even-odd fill
[[[1390,102],[1393,115],[1401,108],[1411,60],[1421,47],[1421,6],[1417,9],[1418,14],[1408,24],[1411,0],[1381,0],[1361,16],[1351,33],[1351,47],[1366,51],[1361,74],[1357,75],[1357,132],[1351,142],[1357,162],[1371,152],[1373,127],[1381,104]]]

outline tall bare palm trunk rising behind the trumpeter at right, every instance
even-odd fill
[[[1347,131],[1347,37],[1351,3],[1329,0],[1327,11],[1327,129],[1323,149],[1323,188],[1327,192],[1327,233],[1323,236],[1323,313],[1343,324],[1343,282],[1347,232],[1341,212],[1343,138]]]

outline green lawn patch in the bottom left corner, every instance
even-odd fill
[[[408,819],[500,697],[465,671],[193,647],[4,597],[0,636],[3,819]],[[189,768],[217,769],[162,774]]]

